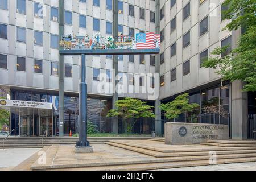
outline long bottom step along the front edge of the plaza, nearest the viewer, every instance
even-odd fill
[[[255,162],[256,158],[241,158],[241,159],[217,159],[216,164]],[[208,160],[184,161],[184,162],[168,162],[168,163],[146,163],[146,164],[127,164],[118,166],[95,166],[95,167],[80,167],[80,168],[65,168],[65,169],[48,169],[48,170],[69,170],[69,171],[145,171],[179,167],[192,166],[207,166]]]

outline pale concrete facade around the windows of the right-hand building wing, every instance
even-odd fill
[[[190,2],[191,15],[183,21],[183,7]],[[213,69],[200,68],[199,54],[205,49],[210,52],[220,46],[220,41],[231,35],[221,31],[228,21],[220,20],[220,5],[224,1],[180,0],[170,9],[170,0],[160,1],[160,9],[165,6],[165,15],[160,20],[160,31],[165,30],[165,40],[161,44],[160,53],[164,53],[165,61],[160,65],[160,76],[164,75],[165,85],[160,87],[160,99],[185,92],[197,86],[220,79]],[[170,33],[171,20],[176,16],[176,30]],[[208,31],[199,35],[199,23],[208,16]],[[183,48],[183,35],[191,32],[191,44]],[[176,42],[176,55],[170,56],[170,46]],[[190,73],[183,76],[183,63],[190,60]],[[171,82],[171,70],[176,68],[176,80]]]

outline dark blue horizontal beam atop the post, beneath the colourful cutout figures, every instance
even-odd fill
[[[61,56],[72,55],[157,55],[160,49],[60,50]]]

